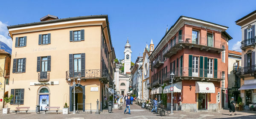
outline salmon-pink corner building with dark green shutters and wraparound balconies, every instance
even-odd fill
[[[227,29],[227,26],[180,16],[149,56],[151,98],[164,97],[167,109],[171,109],[169,84],[170,74],[174,73],[175,110],[218,111],[224,107],[228,41],[232,39],[225,32]]]

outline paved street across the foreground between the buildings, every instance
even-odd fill
[[[255,112],[237,112],[238,115],[230,116],[229,110],[221,110],[218,112],[183,112],[174,111],[173,115],[169,116],[156,116],[149,110],[140,108],[138,105],[131,105],[131,114],[124,114],[124,108],[122,110],[114,109],[113,113],[108,113],[108,110],[104,110],[100,114],[95,113],[79,113],[63,115],[62,113],[10,113],[2,114],[0,112],[0,119],[256,119]],[[128,112],[128,110],[127,110]]]

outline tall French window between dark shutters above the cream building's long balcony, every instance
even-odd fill
[[[81,73],[81,54],[74,55],[74,75],[78,77]]]

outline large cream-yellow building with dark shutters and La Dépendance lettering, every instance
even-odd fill
[[[40,22],[8,26],[13,39],[10,108],[40,105],[73,110],[73,79],[76,104],[83,111],[105,107],[107,87],[113,85],[113,59],[108,15],[58,19],[47,15]],[[71,84],[67,81],[71,79]],[[110,83],[111,82],[111,83]],[[110,85],[109,85],[110,84]],[[106,97],[106,98],[105,98]],[[77,105],[76,105],[77,107]]]

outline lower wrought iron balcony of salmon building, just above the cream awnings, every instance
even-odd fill
[[[220,70],[180,67],[180,68],[176,68],[173,72],[176,78],[189,77],[189,78],[225,79],[225,72]]]

